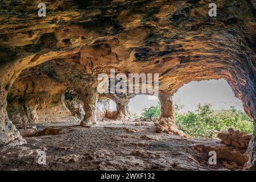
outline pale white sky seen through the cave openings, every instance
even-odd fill
[[[182,112],[196,111],[198,104],[212,104],[212,108],[215,110],[229,109],[230,106],[243,110],[242,101],[234,96],[228,82],[222,79],[189,82],[174,94],[173,100],[184,105]],[[131,113],[140,115],[144,107],[157,105],[158,102],[158,98],[148,100],[148,96],[136,96],[131,99],[129,108]],[[110,104],[110,107],[115,110],[114,102]]]

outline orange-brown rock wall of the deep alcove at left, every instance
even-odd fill
[[[7,96],[9,119],[15,124],[81,120],[84,109],[78,94],[46,74],[39,75],[23,73],[14,82]]]

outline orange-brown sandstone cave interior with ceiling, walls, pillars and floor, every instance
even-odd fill
[[[216,17],[204,0],[49,0],[39,17],[39,1],[2,1],[0,170],[254,170],[256,1],[213,2]],[[99,92],[111,69],[159,75],[159,118],[133,117],[129,102],[142,93]],[[172,97],[220,79],[253,133],[185,134]]]

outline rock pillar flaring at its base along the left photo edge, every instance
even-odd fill
[[[0,146],[16,146],[26,143],[26,140],[21,137],[7,114],[7,93],[9,87],[9,84],[0,83]]]

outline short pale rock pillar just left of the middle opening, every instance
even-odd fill
[[[131,118],[131,113],[129,110],[129,99],[123,99],[123,100],[115,100],[115,103],[117,104],[117,118],[116,119],[129,119]]]

